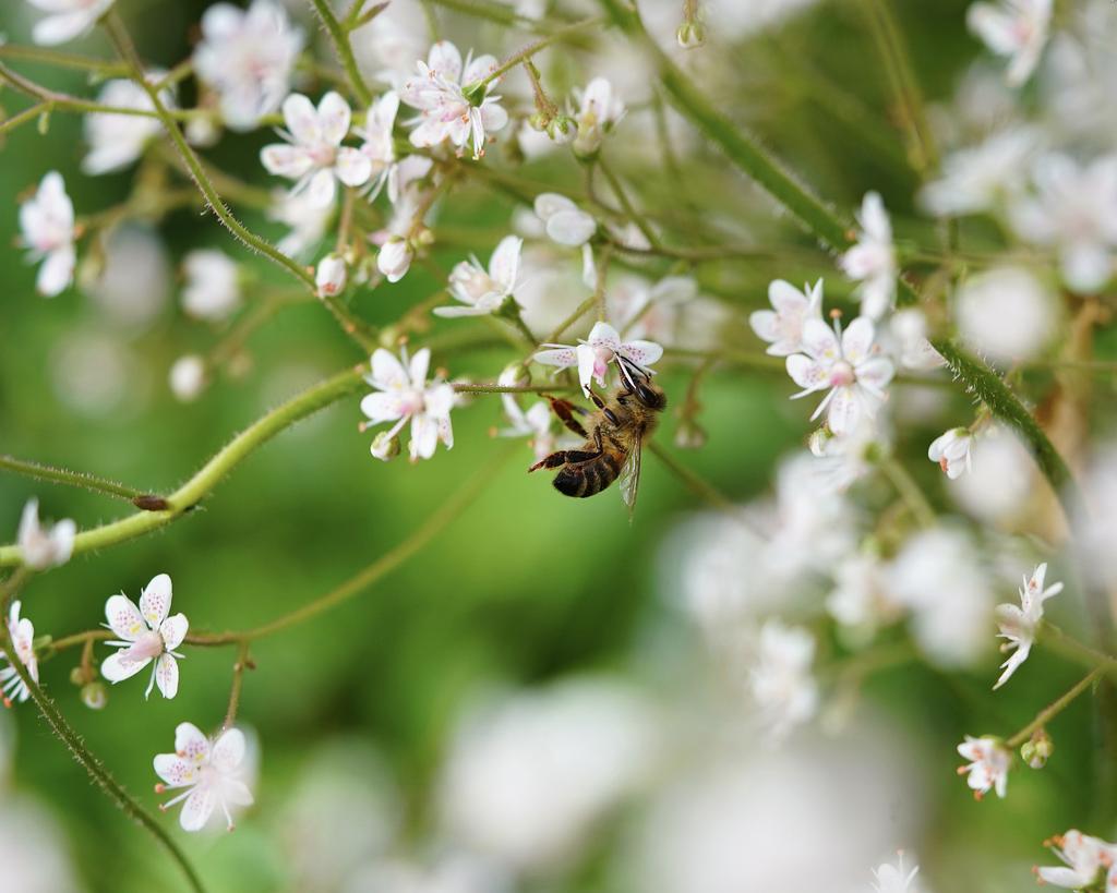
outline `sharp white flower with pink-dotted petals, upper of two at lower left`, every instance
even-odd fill
[[[125,595],[109,596],[105,602],[105,625],[117,640],[106,642],[118,651],[105,657],[101,674],[109,682],[131,679],[154,661],[151,681],[144,698],[156,684],[164,698],[179,692],[179,663],[175,649],[187,637],[190,623],[184,614],[171,613],[171,578],[166,574],[152,577],[140,595],[140,607]]]

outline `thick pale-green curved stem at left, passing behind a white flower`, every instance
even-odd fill
[[[197,474],[169,496],[169,508],[162,511],[141,511],[92,530],[83,530],[74,540],[74,554],[125,542],[175,520],[197,506],[235,465],[280,431],[355,391],[365,372],[364,366],[347,369],[273,410],[233,438]],[[17,546],[0,547],[0,567],[18,564],[20,555]]]

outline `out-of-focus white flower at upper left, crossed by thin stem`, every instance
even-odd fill
[[[163,71],[149,71],[147,80],[157,81]],[[174,105],[170,90],[161,90],[160,100],[165,107]],[[109,80],[101,89],[97,102],[121,108],[154,112],[151,97],[134,80]],[[85,116],[85,141],[89,152],[82,159],[82,172],[96,176],[127,167],[139,159],[147,143],[157,136],[163,125],[159,118],[145,115],[117,115],[96,112]]]

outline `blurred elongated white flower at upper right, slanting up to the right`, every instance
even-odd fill
[[[993,134],[980,145],[952,152],[943,173],[919,192],[919,202],[935,217],[993,211],[1020,194],[1039,135],[1030,127]]]

